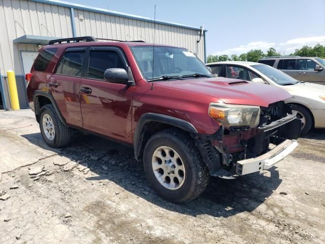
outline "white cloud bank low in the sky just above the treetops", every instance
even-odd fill
[[[295,38],[279,44],[273,42],[256,41],[239,47],[215,51],[212,53],[212,55],[241,54],[244,52],[248,52],[252,49],[261,49],[262,51],[266,51],[270,47],[274,47],[278,52],[281,53],[284,52],[285,54],[290,54],[293,53],[296,49],[301,48],[304,45],[314,46],[317,43],[320,43],[321,45],[325,45],[325,36],[309,36],[309,37]]]

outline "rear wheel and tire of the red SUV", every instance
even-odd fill
[[[71,129],[61,123],[52,104],[42,107],[40,129],[46,144],[59,148],[66,146],[71,138]]]

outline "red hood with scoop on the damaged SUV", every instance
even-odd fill
[[[271,103],[291,97],[286,90],[273,85],[223,77],[161,81],[156,82],[155,85],[208,95],[226,104],[268,107]]]

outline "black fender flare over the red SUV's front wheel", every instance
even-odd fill
[[[145,125],[151,121],[172,125],[184,131],[187,131],[189,133],[198,134],[197,129],[188,121],[185,121],[183,119],[175,118],[169,115],[159,114],[159,113],[145,113],[141,115],[140,119],[138,120],[138,125],[133,138],[134,155],[136,160],[138,161],[139,161],[139,156],[141,154],[142,141],[143,141],[142,132],[145,129]]]

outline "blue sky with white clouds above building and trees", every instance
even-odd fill
[[[274,47],[288,55],[325,45],[325,0],[66,0],[208,30],[207,54],[241,54]]]

